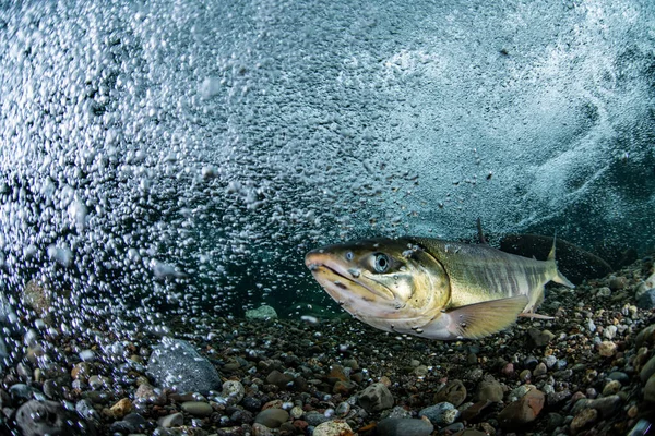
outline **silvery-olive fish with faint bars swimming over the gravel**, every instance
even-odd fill
[[[305,265],[355,318],[384,331],[437,340],[479,339],[535,313],[558,269],[555,241],[537,261],[487,244],[379,238],[310,251]]]

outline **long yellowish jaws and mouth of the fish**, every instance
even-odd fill
[[[366,293],[379,296],[386,301],[395,300],[395,295],[389,289],[378,286],[372,287],[364,282],[362,275],[357,277],[352,272],[353,268],[344,265],[333,255],[312,251],[305,256],[305,265],[309,268],[314,279],[335,299],[341,296],[344,291],[358,294],[365,300],[371,301],[371,296]],[[374,284],[374,282],[373,282]],[[333,293],[337,295],[333,295]]]

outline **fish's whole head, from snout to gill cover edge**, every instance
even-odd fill
[[[404,239],[327,245],[305,264],[345,311],[386,331],[416,331],[450,300],[441,264]]]

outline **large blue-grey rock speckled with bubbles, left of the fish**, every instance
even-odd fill
[[[179,392],[217,390],[221,376],[212,363],[187,341],[164,338],[150,356],[147,372],[159,387]]]

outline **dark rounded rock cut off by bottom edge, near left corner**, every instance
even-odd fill
[[[31,400],[16,412],[23,436],[95,435],[95,428],[55,401]]]

